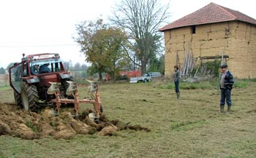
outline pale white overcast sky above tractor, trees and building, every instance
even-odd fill
[[[0,68],[20,62],[22,54],[59,53],[62,60],[86,63],[72,37],[75,25],[84,20],[108,21],[121,0],[0,0]],[[161,0],[167,5],[169,0]],[[253,0],[170,0],[167,23],[214,2],[256,19]],[[166,25],[161,25],[160,27]]]

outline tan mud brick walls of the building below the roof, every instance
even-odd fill
[[[230,21],[174,28],[165,35],[165,77],[173,74],[173,66],[182,67],[187,51],[194,58],[229,55],[227,64],[237,78],[256,78],[256,26]],[[177,60],[178,54],[178,60]],[[199,62],[197,62],[199,63]]]

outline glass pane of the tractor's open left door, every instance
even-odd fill
[[[19,63],[10,68],[10,80],[12,87],[18,92],[21,92],[21,77],[23,71],[23,64]]]

